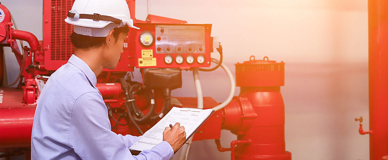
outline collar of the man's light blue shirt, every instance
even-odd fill
[[[92,85],[95,87],[96,84],[97,84],[97,78],[96,78],[96,75],[94,74],[94,72],[92,71],[92,69],[90,69],[90,67],[88,66],[88,64],[85,63],[85,61],[83,61],[82,59],[80,59],[79,57],[77,57],[76,55],[71,55],[71,57],[69,58],[69,63],[73,64],[74,66],[76,66],[77,68],[80,68],[80,70],[83,72],[83,74],[85,74],[85,76],[88,78],[88,80],[90,81],[90,83],[92,83]]]

